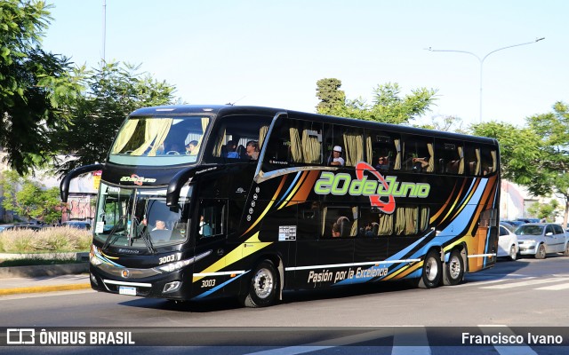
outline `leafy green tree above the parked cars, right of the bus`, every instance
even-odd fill
[[[534,196],[557,193],[565,199],[564,225],[569,215],[569,108],[563,102],[553,112],[526,118],[527,127],[488,122],[474,134],[497,138],[501,145],[502,176],[525,185]]]

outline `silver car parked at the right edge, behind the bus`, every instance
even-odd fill
[[[520,255],[544,259],[549,253],[569,256],[567,234],[561,225],[554,223],[528,223],[516,230]]]

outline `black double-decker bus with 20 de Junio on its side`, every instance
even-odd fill
[[[67,201],[73,177],[102,170],[93,289],[260,307],[284,290],[436,288],[493,266],[499,167],[492,138],[258,106],[156,106],[130,114],[106,162],[60,187]]]

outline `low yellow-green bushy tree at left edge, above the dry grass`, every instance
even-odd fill
[[[44,185],[28,177],[20,177],[14,170],[5,170],[0,176],[0,184],[4,185],[4,209],[45,223],[55,223],[60,219],[60,190],[57,187],[46,190]]]

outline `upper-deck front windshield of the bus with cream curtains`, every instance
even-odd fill
[[[169,165],[196,162],[210,116],[130,116],[108,157],[119,164]]]

